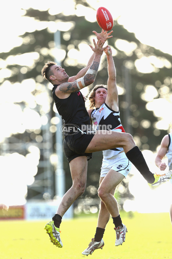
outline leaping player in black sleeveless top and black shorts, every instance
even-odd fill
[[[91,157],[92,152],[123,147],[126,156],[141,174],[147,174],[148,182],[154,185],[159,184],[159,177],[156,177],[149,171],[141,151],[135,145],[130,134],[121,132],[112,132],[112,134],[108,134],[107,131],[101,130],[90,133],[91,127],[89,115],[79,90],[94,82],[101,55],[103,54],[104,49],[108,47],[103,47],[105,42],[104,39],[106,40],[110,35],[103,30],[100,34],[95,34],[98,39],[97,44],[93,39],[94,47],[89,45],[95,56],[84,77],[78,78],[74,82],[69,82],[67,73],[61,66],[54,62],[47,62],[42,68],[43,77],[54,85],[53,97],[56,102],[56,107],[64,123],[66,123],[64,153],[69,161],[73,180],[72,187],[64,194],[52,221],[45,225],[46,232],[49,234],[51,242],[58,247],[62,247],[59,230],[62,216],[73,202],[85,191],[87,159]]]

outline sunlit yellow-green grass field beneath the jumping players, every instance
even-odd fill
[[[101,259],[172,259],[172,225],[168,213],[122,213],[128,233],[123,245],[115,247],[115,231],[110,218],[103,240],[103,250],[89,257]],[[0,259],[89,258],[81,253],[94,237],[96,216],[63,220],[60,226],[62,248],[55,247],[44,230],[47,221],[0,221]]]

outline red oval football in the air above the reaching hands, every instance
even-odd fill
[[[110,31],[114,25],[112,15],[105,7],[99,7],[96,14],[97,22],[99,26],[105,30]]]

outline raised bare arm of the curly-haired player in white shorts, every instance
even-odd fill
[[[107,96],[105,103],[114,111],[118,111],[118,89],[116,85],[116,68],[112,57],[111,47],[104,50],[107,56]]]

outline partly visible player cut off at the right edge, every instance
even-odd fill
[[[155,158],[155,164],[161,171],[164,171],[167,167],[167,165],[162,161],[165,155],[168,158],[169,170],[172,170],[172,132],[163,137],[161,146]],[[169,179],[169,182],[172,184],[172,178]],[[170,218],[172,223],[172,201],[170,205]]]

